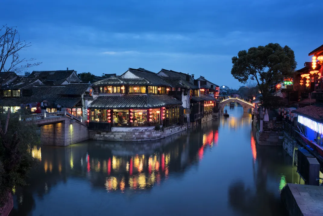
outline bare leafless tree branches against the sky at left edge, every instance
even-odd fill
[[[20,58],[19,51],[30,47],[31,43],[20,40],[16,27],[7,25],[0,28],[0,72],[11,71],[19,73],[22,70],[41,64],[42,62],[32,61],[34,58]]]

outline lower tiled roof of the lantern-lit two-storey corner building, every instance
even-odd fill
[[[90,105],[93,109],[149,109],[182,102],[169,95],[124,94],[120,96],[99,96]]]

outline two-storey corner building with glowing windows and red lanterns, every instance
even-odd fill
[[[184,124],[182,102],[168,95],[169,83],[155,73],[129,68],[121,76],[93,83],[94,101],[89,105],[88,122],[136,127]],[[90,124],[91,125],[91,124]]]

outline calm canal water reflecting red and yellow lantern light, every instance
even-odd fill
[[[257,146],[251,115],[148,143],[35,146],[39,165],[13,190],[10,215],[286,215],[280,190],[298,183],[282,147]]]

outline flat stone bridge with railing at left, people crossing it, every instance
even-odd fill
[[[21,120],[33,120],[40,126],[42,145],[68,146],[89,139],[89,130],[84,121],[66,110],[23,115]]]

